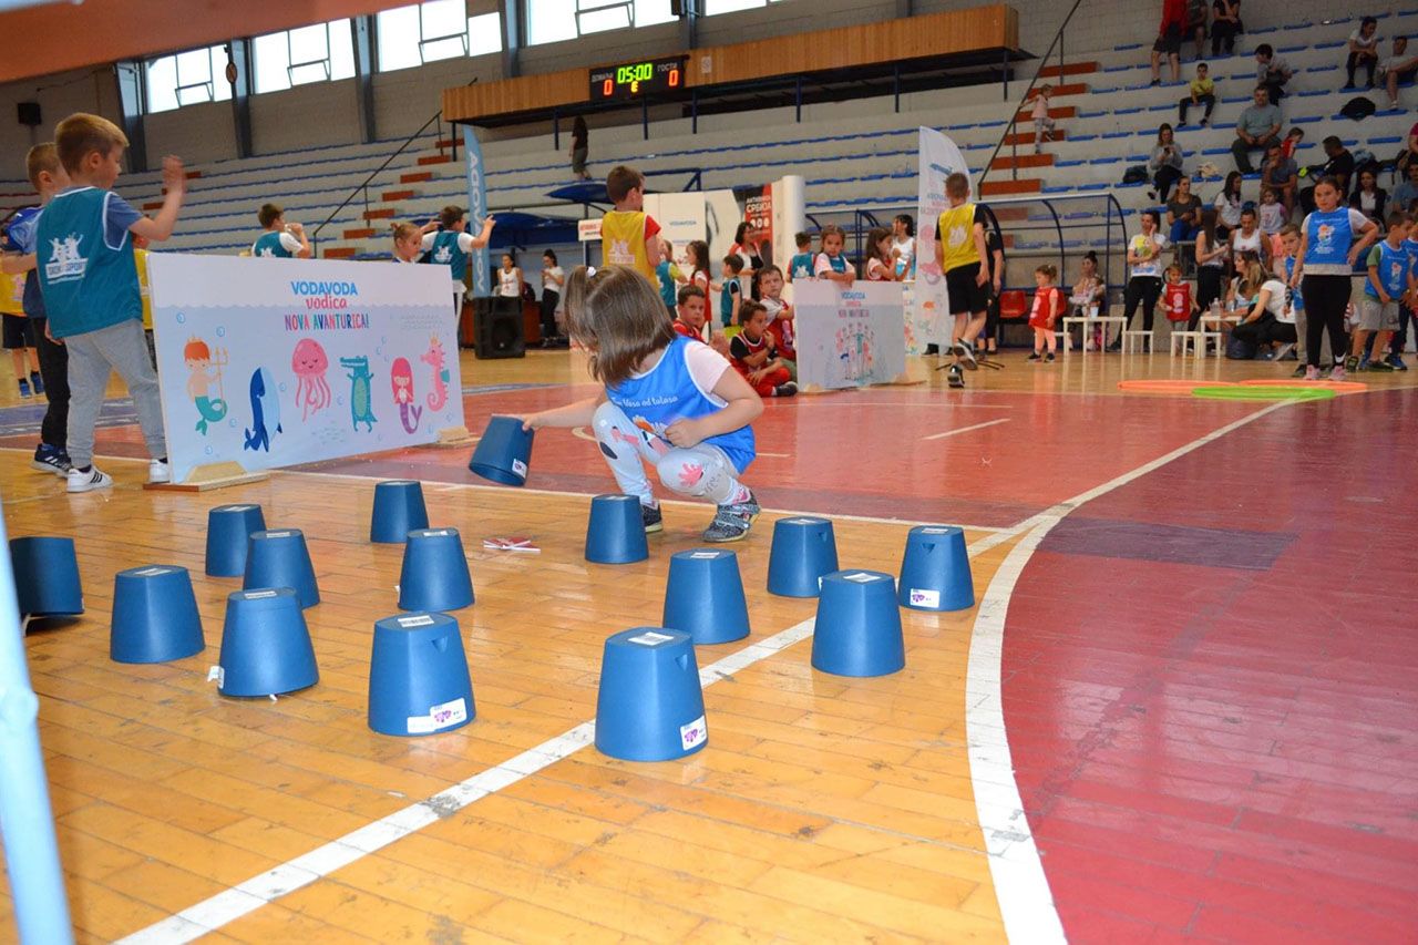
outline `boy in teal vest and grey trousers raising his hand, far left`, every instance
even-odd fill
[[[94,465],[94,426],[112,370],[133,397],[152,457],[147,481],[167,482],[162,400],[143,338],[143,298],[130,236],[159,243],[172,236],[187,175],[179,159],[163,160],[166,196],[149,220],[112,192],[128,148],[118,125],[98,115],[69,115],[55,129],[54,145],[72,186],[45,207],[35,243],[47,331],[69,352],[68,491],[113,485],[112,477]]]

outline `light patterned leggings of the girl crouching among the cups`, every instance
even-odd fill
[[[739,471],[729,461],[729,454],[713,444],[674,447],[664,438],[637,427],[625,411],[613,403],[603,403],[596,409],[591,427],[621,492],[638,497],[641,505],[655,504],[655,494],[645,475],[645,463],[655,467],[665,488],[679,495],[727,505],[732,501],[742,501],[749,494],[749,490],[739,482]]]

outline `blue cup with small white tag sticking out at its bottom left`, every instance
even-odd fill
[[[315,647],[291,587],[238,590],[227,597],[217,691],[223,695],[279,695],[315,685]]]

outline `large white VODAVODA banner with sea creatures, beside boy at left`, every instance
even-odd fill
[[[437,265],[149,257],[173,481],[432,443],[462,383]]]

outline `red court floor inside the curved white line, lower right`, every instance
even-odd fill
[[[1280,409],[1024,569],[1005,722],[1072,941],[1414,941],[1415,421]]]

